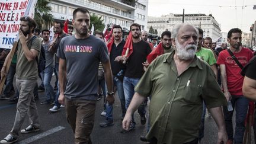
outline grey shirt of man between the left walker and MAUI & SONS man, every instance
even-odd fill
[[[44,51],[45,51],[45,56],[46,56],[46,68],[48,66],[52,66],[54,67],[54,53],[49,52],[49,48],[50,48],[50,44],[52,43],[51,40],[47,41],[46,43],[44,43],[42,41],[43,47],[44,47]]]

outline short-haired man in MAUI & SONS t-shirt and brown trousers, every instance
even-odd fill
[[[98,92],[98,66],[105,73],[108,94],[106,100],[114,103],[113,78],[105,43],[88,33],[89,11],[73,11],[72,24],[76,33],[64,37],[59,44],[59,103],[66,108],[66,117],[75,134],[75,143],[91,143],[95,104]]]

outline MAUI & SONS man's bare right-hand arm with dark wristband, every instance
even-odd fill
[[[112,71],[110,67],[110,60],[102,64],[104,69],[105,81],[107,84],[107,90],[108,92],[113,92],[113,76],[112,76]],[[113,104],[114,103],[113,95],[107,95],[106,101],[108,101],[108,104]]]

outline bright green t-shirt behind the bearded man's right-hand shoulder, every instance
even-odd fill
[[[210,66],[216,63],[216,59],[212,50],[206,49],[204,47],[201,47],[199,52],[196,52],[196,56],[207,62]]]

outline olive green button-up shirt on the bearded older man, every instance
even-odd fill
[[[153,61],[135,88],[140,95],[152,95],[147,139],[156,137],[158,143],[186,143],[196,139],[203,101],[207,108],[227,104],[206,62],[195,56],[178,76],[174,53],[175,50]]]

